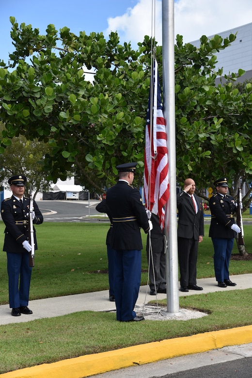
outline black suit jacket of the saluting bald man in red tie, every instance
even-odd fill
[[[177,195],[178,236],[199,240],[200,235],[204,236],[204,211],[201,198],[195,194],[194,198],[198,204],[197,214],[191,198],[184,190]]]

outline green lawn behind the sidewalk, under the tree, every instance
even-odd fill
[[[35,251],[30,300],[106,290],[108,259],[106,235],[108,223],[49,223],[36,227],[38,251]],[[251,226],[244,225],[244,239],[252,253]],[[197,278],[214,277],[213,246],[205,225],[205,237],[199,244]],[[0,222],[3,245],[4,225]],[[142,233],[142,282],[147,284],[146,235]],[[237,253],[237,247],[234,247]],[[230,275],[252,273],[252,261],[231,261]],[[8,303],[6,253],[0,259],[0,304]]]

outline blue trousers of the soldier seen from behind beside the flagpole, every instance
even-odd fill
[[[139,250],[116,250],[114,253],[114,293],[116,320],[130,321],[136,313],[141,283],[142,254]]]

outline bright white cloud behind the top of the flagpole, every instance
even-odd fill
[[[144,35],[162,40],[161,0],[156,0],[156,25],[152,33],[152,0],[139,0],[121,16],[108,19],[104,32],[117,31],[121,43],[131,41],[132,46],[142,42]],[[252,22],[251,0],[177,0],[174,3],[174,35],[183,35],[184,42],[198,40],[202,35],[218,34]]]

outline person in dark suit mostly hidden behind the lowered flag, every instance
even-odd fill
[[[153,229],[147,235],[146,252],[149,264],[150,295],[166,294],[166,258],[164,229],[161,230],[159,218],[151,214]]]

